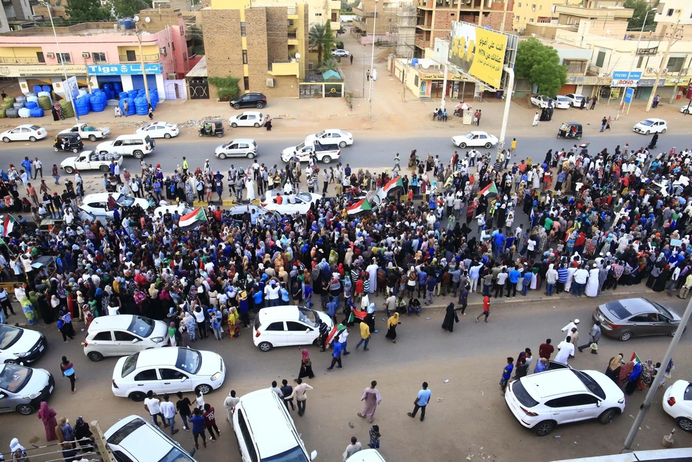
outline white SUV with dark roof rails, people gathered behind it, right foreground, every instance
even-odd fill
[[[504,400],[521,425],[538,436],[564,423],[593,418],[610,423],[625,409],[625,395],[610,378],[572,368],[521,377],[509,384]]]

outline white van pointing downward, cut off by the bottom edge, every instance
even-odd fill
[[[233,429],[243,462],[309,462],[311,454],[295,429],[286,405],[271,389],[248,393],[233,408]]]

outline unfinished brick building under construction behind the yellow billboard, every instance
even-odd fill
[[[453,21],[511,30],[514,0],[418,0],[415,56],[424,57],[435,39],[448,39]]]

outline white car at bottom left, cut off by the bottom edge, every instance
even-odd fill
[[[197,462],[177,441],[140,416],[118,420],[104,432],[118,462]]]

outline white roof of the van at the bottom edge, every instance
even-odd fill
[[[286,422],[284,407],[271,389],[253,391],[240,397],[245,420],[253,431],[260,450],[260,459],[293,449],[300,445],[293,431],[280,431],[277,427]],[[266,452],[271,447],[271,454]]]

